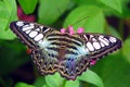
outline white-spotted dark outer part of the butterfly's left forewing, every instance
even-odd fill
[[[43,25],[23,21],[12,22],[10,27],[30,49],[37,48],[37,44],[43,40],[46,33],[52,30]]]

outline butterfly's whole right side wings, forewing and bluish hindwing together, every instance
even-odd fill
[[[121,47],[121,40],[109,35],[75,34],[73,37],[75,37],[73,46],[76,49],[67,48],[73,52],[65,55],[58,71],[67,79],[75,79],[91,65],[91,62]],[[81,42],[81,46],[76,42]]]

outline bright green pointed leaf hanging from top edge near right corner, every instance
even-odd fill
[[[121,0],[100,0],[105,5],[116,10],[117,12],[121,13]]]

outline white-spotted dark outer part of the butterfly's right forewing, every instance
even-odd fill
[[[84,40],[86,50],[89,52],[89,59],[100,59],[121,48],[121,40],[110,35],[103,34],[80,34]]]

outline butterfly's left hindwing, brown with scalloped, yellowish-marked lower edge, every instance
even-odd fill
[[[57,72],[58,69],[58,60],[56,58],[50,57],[46,51],[41,50],[32,50],[31,58],[34,63],[36,64],[38,71],[42,75],[53,74]]]

